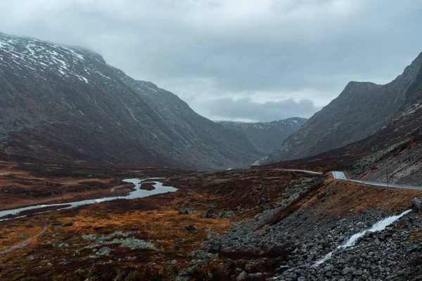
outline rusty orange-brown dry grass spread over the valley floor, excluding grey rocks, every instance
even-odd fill
[[[330,163],[332,162],[326,162],[327,165]],[[7,166],[7,164],[1,165]],[[27,171],[31,166],[26,166],[23,171],[15,167],[8,168],[6,168],[7,173],[15,172],[12,175],[14,177],[11,177],[11,174],[1,175],[6,173],[1,169],[0,188],[1,184],[4,184],[1,181],[18,184],[18,181],[27,181],[27,178],[31,177],[35,181],[42,174],[39,169],[36,172]],[[192,258],[188,257],[188,253],[199,249],[207,240],[210,231],[215,235],[224,233],[229,230],[231,221],[252,218],[263,210],[265,204],[272,206],[285,199],[286,187],[293,179],[314,177],[297,173],[296,178],[292,178],[293,175],[290,173],[277,169],[271,167],[174,176],[165,181],[165,184],[179,188],[177,192],[137,200],[103,202],[79,209],[53,211],[16,221],[2,222],[0,245],[6,248],[22,242],[25,237],[39,233],[42,230],[41,218],[46,221],[48,228],[44,235],[30,241],[29,246],[0,257],[0,280],[12,280],[13,277],[18,278],[16,280],[31,280],[32,276],[37,276],[37,280],[86,280],[89,276],[96,276],[96,280],[174,280],[174,276],[181,269],[191,266]],[[309,166],[309,169],[314,170],[314,167]],[[134,169],[110,171],[115,173],[110,176],[107,170],[103,174],[99,171],[95,173],[98,179],[113,183],[108,186],[111,188],[116,186],[115,181],[118,182],[123,176],[129,177],[133,175],[131,173],[141,175],[148,171],[135,172]],[[157,176],[165,172],[159,171]],[[67,173],[67,176],[61,178],[63,173]],[[48,178],[51,183],[57,184],[78,181],[85,188],[89,188],[93,183],[85,179],[88,173],[95,174],[94,171],[85,171],[85,176],[81,173],[79,170],[52,169],[42,178]],[[58,176],[59,174],[61,176]],[[104,190],[109,192],[108,188]],[[83,195],[94,195],[97,191],[84,190],[87,194]],[[263,197],[264,202],[262,202]],[[328,178],[282,209],[269,223],[277,223],[289,214],[307,207],[314,209],[317,218],[349,216],[353,212],[374,208],[393,213],[408,209],[413,197],[422,197],[422,192],[369,187]],[[30,200],[36,202],[34,197]],[[200,213],[210,209],[211,204],[214,205],[212,209],[216,214],[222,210],[233,210],[236,216],[229,220],[200,218]],[[181,207],[195,208],[197,213],[180,215],[178,210]],[[193,227],[187,228],[187,226]],[[124,233],[133,231],[135,239],[151,242],[154,249],[129,249],[119,247],[118,244],[107,244],[112,254],[95,257],[98,247],[95,250],[85,247],[93,242],[84,240],[82,235],[110,235],[115,231]],[[24,235],[21,235],[22,233]],[[414,234],[415,239],[419,238],[418,235]],[[53,247],[54,243],[67,243],[68,246]],[[179,249],[173,249],[175,244]],[[256,264],[254,270],[271,273],[276,266],[274,257],[287,256],[290,251],[287,248],[271,249],[264,253],[260,249],[247,252],[236,249],[222,251],[219,253],[219,258],[211,259],[205,266],[198,266],[194,277],[196,280],[230,280],[236,268],[244,268],[245,264],[242,262],[260,256],[266,257],[267,263]],[[247,259],[240,261],[238,259],[240,256]],[[212,273],[212,277],[208,273]]]

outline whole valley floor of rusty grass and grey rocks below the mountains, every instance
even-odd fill
[[[343,171],[350,161],[303,169]],[[127,194],[133,185],[124,178],[164,177],[178,188],[0,222],[0,279],[418,280],[417,212],[315,262],[377,221],[411,209],[421,190],[281,171],[299,164],[202,172],[0,163],[0,210],[61,202],[62,190],[63,202]]]

